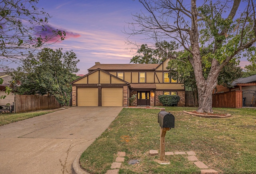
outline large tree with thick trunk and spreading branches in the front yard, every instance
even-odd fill
[[[255,59],[256,18],[254,0],[139,0],[147,10],[134,14],[130,35],[144,34],[156,40],[172,40],[184,49],[198,87],[198,112],[213,113],[212,91],[220,71],[242,53]],[[242,10],[242,11],[241,11]],[[212,49],[204,56],[202,48]],[[170,55],[170,58],[176,59]],[[204,68],[210,67],[207,77]]]

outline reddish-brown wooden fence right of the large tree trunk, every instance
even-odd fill
[[[212,94],[212,107],[242,108],[242,106],[242,90]]]

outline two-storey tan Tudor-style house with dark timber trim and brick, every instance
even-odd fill
[[[169,59],[160,64],[100,64],[73,81],[73,106],[162,106],[159,95],[179,95],[178,106],[185,106],[184,85],[168,77]]]

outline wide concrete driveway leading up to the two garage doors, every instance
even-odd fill
[[[72,107],[0,127],[1,174],[70,174],[122,107]]]

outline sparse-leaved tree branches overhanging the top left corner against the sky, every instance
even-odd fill
[[[63,40],[65,32],[48,25],[50,15],[38,0],[0,0],[0,67],[19,62],[42,45]]]

